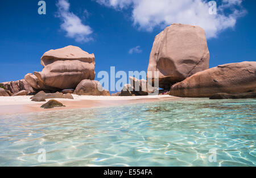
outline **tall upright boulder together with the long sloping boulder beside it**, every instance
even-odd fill
[[[154,84],[158,72],[159,87],[169,89],[172,96],[254,97],[254,93],[247,92],[256,88],[256,62],[208,68],[209,51],[203,28],[175,23],[156,35],[147,79]]]

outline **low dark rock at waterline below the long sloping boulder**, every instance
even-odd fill
[[[210,100],[247,99],[247,98],[256,98],[256,92],[247,92],[247,93],[239,93],[239,94],[216,93],[210,97]]]

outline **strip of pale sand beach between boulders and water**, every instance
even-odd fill
[[[0,97],[0,115],[35,113],[41,111],[82,109],[88,107],[104,107],[127,104],[142,104],[146,102],[157,101],[177,101],[184,98],[160,95],[160,96],[77,96],[72,94],[74,100],[56,98],[65,107],[54,107],[52,109],[43,109],[40,106],[51,99],[43,102],[31,101],[32,96]]]

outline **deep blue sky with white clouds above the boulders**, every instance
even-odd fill
[[[67,45],[94,53],[96,76],[110,66],[115,71],[146,71],[155,35],[171,23],[205,28],[210,67],[255,61],[256,1],[217,1],[215,16],[205,15],[208,1],[203,0],[162,0],[157,7],[154,0],[59,1],[67,2],[67,9],[57,6],[57,0],[46,0],[46,15],[38,14],[37,0],[0,1],[0,82],[42,71],[43,53]],[[73,27],[65,27],[65,15],[78,20]]]

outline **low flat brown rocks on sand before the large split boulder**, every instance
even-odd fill
[[[30,99],[32,101],[46,101],[46,99],[49,99],[49,98],[65,98],[65,99],[71,99],[73,100],[73,96],[72,94],[70,93],[67,93],[67,94],[63,94],[63,93],[59,93],[59,92],[56,92],[56,93],[45,93],[43,91],[41,92],[38,92],[35,96],[32,96]]]

